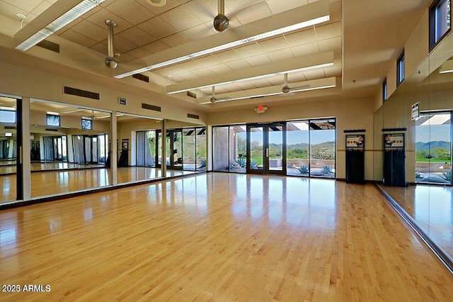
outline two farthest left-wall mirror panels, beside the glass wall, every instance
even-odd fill
[[[206,128],[166,121],[166,155],[161,154],[161,121],[117,113],[118,183],[145,181],[206,170]]]

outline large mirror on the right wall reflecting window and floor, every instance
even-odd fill
[[[450,34],[374,113],[375,149],[383,147],[382,128],[406,128],[404,171],[408,186],[384,185],[382,189],[451,268],[453,73],[445,72],[453,57],[452,45]],[[419,115],[415,112],[413,116],[414,104],[418,104]],[[382,167],[382,159],[375,154],[377,181],[382,181]]]

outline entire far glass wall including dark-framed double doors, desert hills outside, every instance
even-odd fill
[[[246,173],[249,155],[250,172],[266,169],[267,173],[336,177],[335,118],[254,124],[247,128],[245,125],[216,126],[212,134],[214,171]]]

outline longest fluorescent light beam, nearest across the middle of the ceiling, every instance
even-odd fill
[[[139,72],[147,72],[152,69],[192,60],[214,52],[228,50],[233,47],[270,38],[275,35],[281,35],[301,28],[314,26],[315,24],[328,20],[330,20],[328,0],[319,0],[311,4],[300,6],[297,9],[292,9],[248,23],[239,28],[234,28],[233,30],[227,30],[222,33],[222,37],[220,37],[219,34],[210,35],[200,40],[175,47],[171,52],[158,52],[157,54],[150,55],[150,61],[154,61],[154,63],[151,63],[147,67],[118,74],[115,78],[122,79]],[[265,31],[263,32],[263,30]],[[193,49],[193,52],[187,54],[188,49]],[[146,59],[147,57],[143,58],[145,62],[147,62]]]

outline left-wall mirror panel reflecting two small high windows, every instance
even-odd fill
[[[47,101],[30,103],[31,196],[110,185],[110,113]]]

